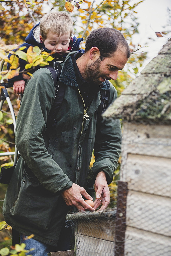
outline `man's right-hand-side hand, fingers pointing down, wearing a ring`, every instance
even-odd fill
[[[109,205],[109,201],[110,201],[110,191],[109,191],[108,184],[106,182],[106,175],[104,172],[99,172],[98,175],[96,176],[94,189],[96,192],[94,209],[97,209],[102,203],[102,206],[100,207],[99,210],[104,210]]]

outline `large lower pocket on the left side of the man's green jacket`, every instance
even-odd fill
[[[57,208],[58,198],[59,195],[47,191],[41,184],[31,181],[24,174],[10,214],[23,224],[46,231]]]

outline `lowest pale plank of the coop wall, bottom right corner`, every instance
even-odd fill
[[[125,232],[125,255],[170,256],[171,238],[127,227]]]

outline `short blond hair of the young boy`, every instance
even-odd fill
[[[40,21],[40,34],[43,40],[49,32],[57,35],[70,34],[74,31],[73,20],[64,12],[50,12],[44,15]]]

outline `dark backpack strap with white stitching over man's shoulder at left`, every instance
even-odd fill
[[[46,68],[49,69],[52,74],[52,78],[54,80],[54,87],[55,87],[55,99],[54,99],[54,103],[52,105],[52,108],[50,110],[49,117],[48,117],[50,125],[54,126],[54,125],[56,125],[55,115],[59,111],[59,108],[63,101],[63,96],[65,93],[65,86],[63,86],[63,84],[59,83],[59,78],[60,78],[60,74],[61,74],[61,70],[62,70],[62,68],[60,66],[60,62],[54,61],[53,67],[48,66]]]

